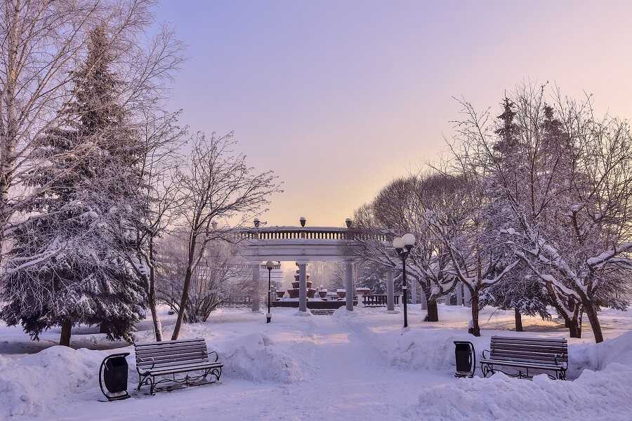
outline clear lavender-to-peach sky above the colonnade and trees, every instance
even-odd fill
[[[162,0],[187,46],[169,107],[235,132],[284,182],[268,225],[343,226],[393,178],[445,154],[465,98],[525,81],[632,116],[632,1]],[[497,114],[500,114],[499,112]]]

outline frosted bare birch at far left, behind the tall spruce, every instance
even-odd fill
[[[0,270],[11,250],[12,234],[25,221],[23,210],[52,189],[56,177],[35,188],[27,173],[46,165],[40,140],[63,131],[75,98],[73,70],[86,57],[91,28],[105,25],[114,48],[117,74],[125,85],[119,103],[128,112],[155,104],[165,79],[178,63],[180,44],[168,28],[154,37],[143,34],[152,22],[153,0],[6,0],[0,7]],[[77,117],[77,116],[76,116]],[[79,162],[93,144],[59,149]],[[70,171],[70,169],[69,169]],[[37,265],[38,261],[32,261]],[[29,264],[23,262],[23,265]]]

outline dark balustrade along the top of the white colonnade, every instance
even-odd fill
[[[336,227],[265,227],[242,229],[237,236],[242,240],[350,240],[350,241],[390,241],[390,235],[383,232]]]

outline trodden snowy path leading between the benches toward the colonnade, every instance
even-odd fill
[[[333,316],[291,317],[267,332],[288,340],[287,323],[300,326],[289,340],[306,379],[282,384],[223,377],[221,385],[191,387],[118,403],[82,402],[62,420],[399,420],[412,415],[425,385],[454,381],[446,373],[386,366],[354,323]],[[294,326],[296,329],[297,326]],[[133,381],[134,382],[134,381]]]

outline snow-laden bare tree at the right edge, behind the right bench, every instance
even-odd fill
[[[586,312],[601,342],[600,307],[627,305],[632,136],[626,121],[597,119],[591,97],[552,91],[547,105],[545,91],[519,86],[511,95],[519,128],[511,154],[501,153],[489,113],[463,102],[455,156],[489,179],[498,234],[541,281],[571,336]]]

